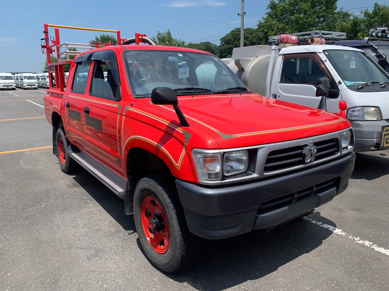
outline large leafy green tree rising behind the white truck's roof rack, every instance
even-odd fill
[[[352,14],[338,10],[338,0],[270,0],[265,17],[258,22],[263,44],[268,36],[279,32],[297,33],[311,30],[338,31]]]

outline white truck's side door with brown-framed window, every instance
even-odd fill
[[[316,86],[322,77],[330,81],[332,98],[327,98],[328,111],[338,111],[341,99],[333,77],[316,54],[291,54],[282,58],[279,83],[275,85],[276,99],[317,108],[321,96],[316,97]]]

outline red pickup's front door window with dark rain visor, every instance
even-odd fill
[[[120,100],[120,82],[117,70],[116,54],[105,50],[96,52],[92,58],[94,61],[90,95]]]

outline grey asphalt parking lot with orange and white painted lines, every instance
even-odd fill
[[[61,172],[43,95],[0,91],[0,290],[389,290],[389,150],[357,154],[348,189],[308,217],[203,241],[165,274],[123,200]]]

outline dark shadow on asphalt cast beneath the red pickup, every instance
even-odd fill
[[[73,178],[124,230],[135,232],[132,215],[124,214],[123,200],[85,170],[80,170]],[[336,227],[319,211],[308,217]],[[274,272],[318,248],[331,234],[333,232],[323,231],[300,218],[275,227],[268,233],[252,231],[228,239],[201,240],[202,250],[198,254],[198,261],[179,274],[166,274],[154,268],[156,272],[177,282],[187,282],[195,289],[220,291]],[[139,239],[137,244],[144,253]]]

